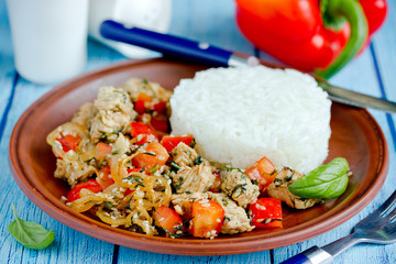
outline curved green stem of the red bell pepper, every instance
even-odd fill
[[[361,50],[369,34],[369,25],[363,9],[356,0],[329,0],[326,11],[329,15],[343,16],[351,26],[351,35],[340,55],[324,69],[315,69],[322,78],[330,78],[348,64]]]

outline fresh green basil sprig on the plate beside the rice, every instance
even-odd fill
[[[289,185],[292,194],[302,198],[332,199],[341,196],[348,186],[349,165],[345,158],[337,157],[319,166]]]

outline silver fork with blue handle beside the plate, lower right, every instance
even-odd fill
[[[396,190],[375,211],[362,219],[350,235],[322,248],[312,246],[283,262],[283,264],[329,264],[341,252],[359,243],[391,244],[396,242],[396,208],[387,213],[396,202]]]

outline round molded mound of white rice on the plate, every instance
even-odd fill
[[[211,162],[248,169],[263,156],[302,174],[328,155],[331,101],[293,69],[211,68],[170,98],[172,134],[193,134]]]

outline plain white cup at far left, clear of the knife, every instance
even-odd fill
[[[37,84],[79,74],[87,62],[88,0],[7,0],[15,68]]]

